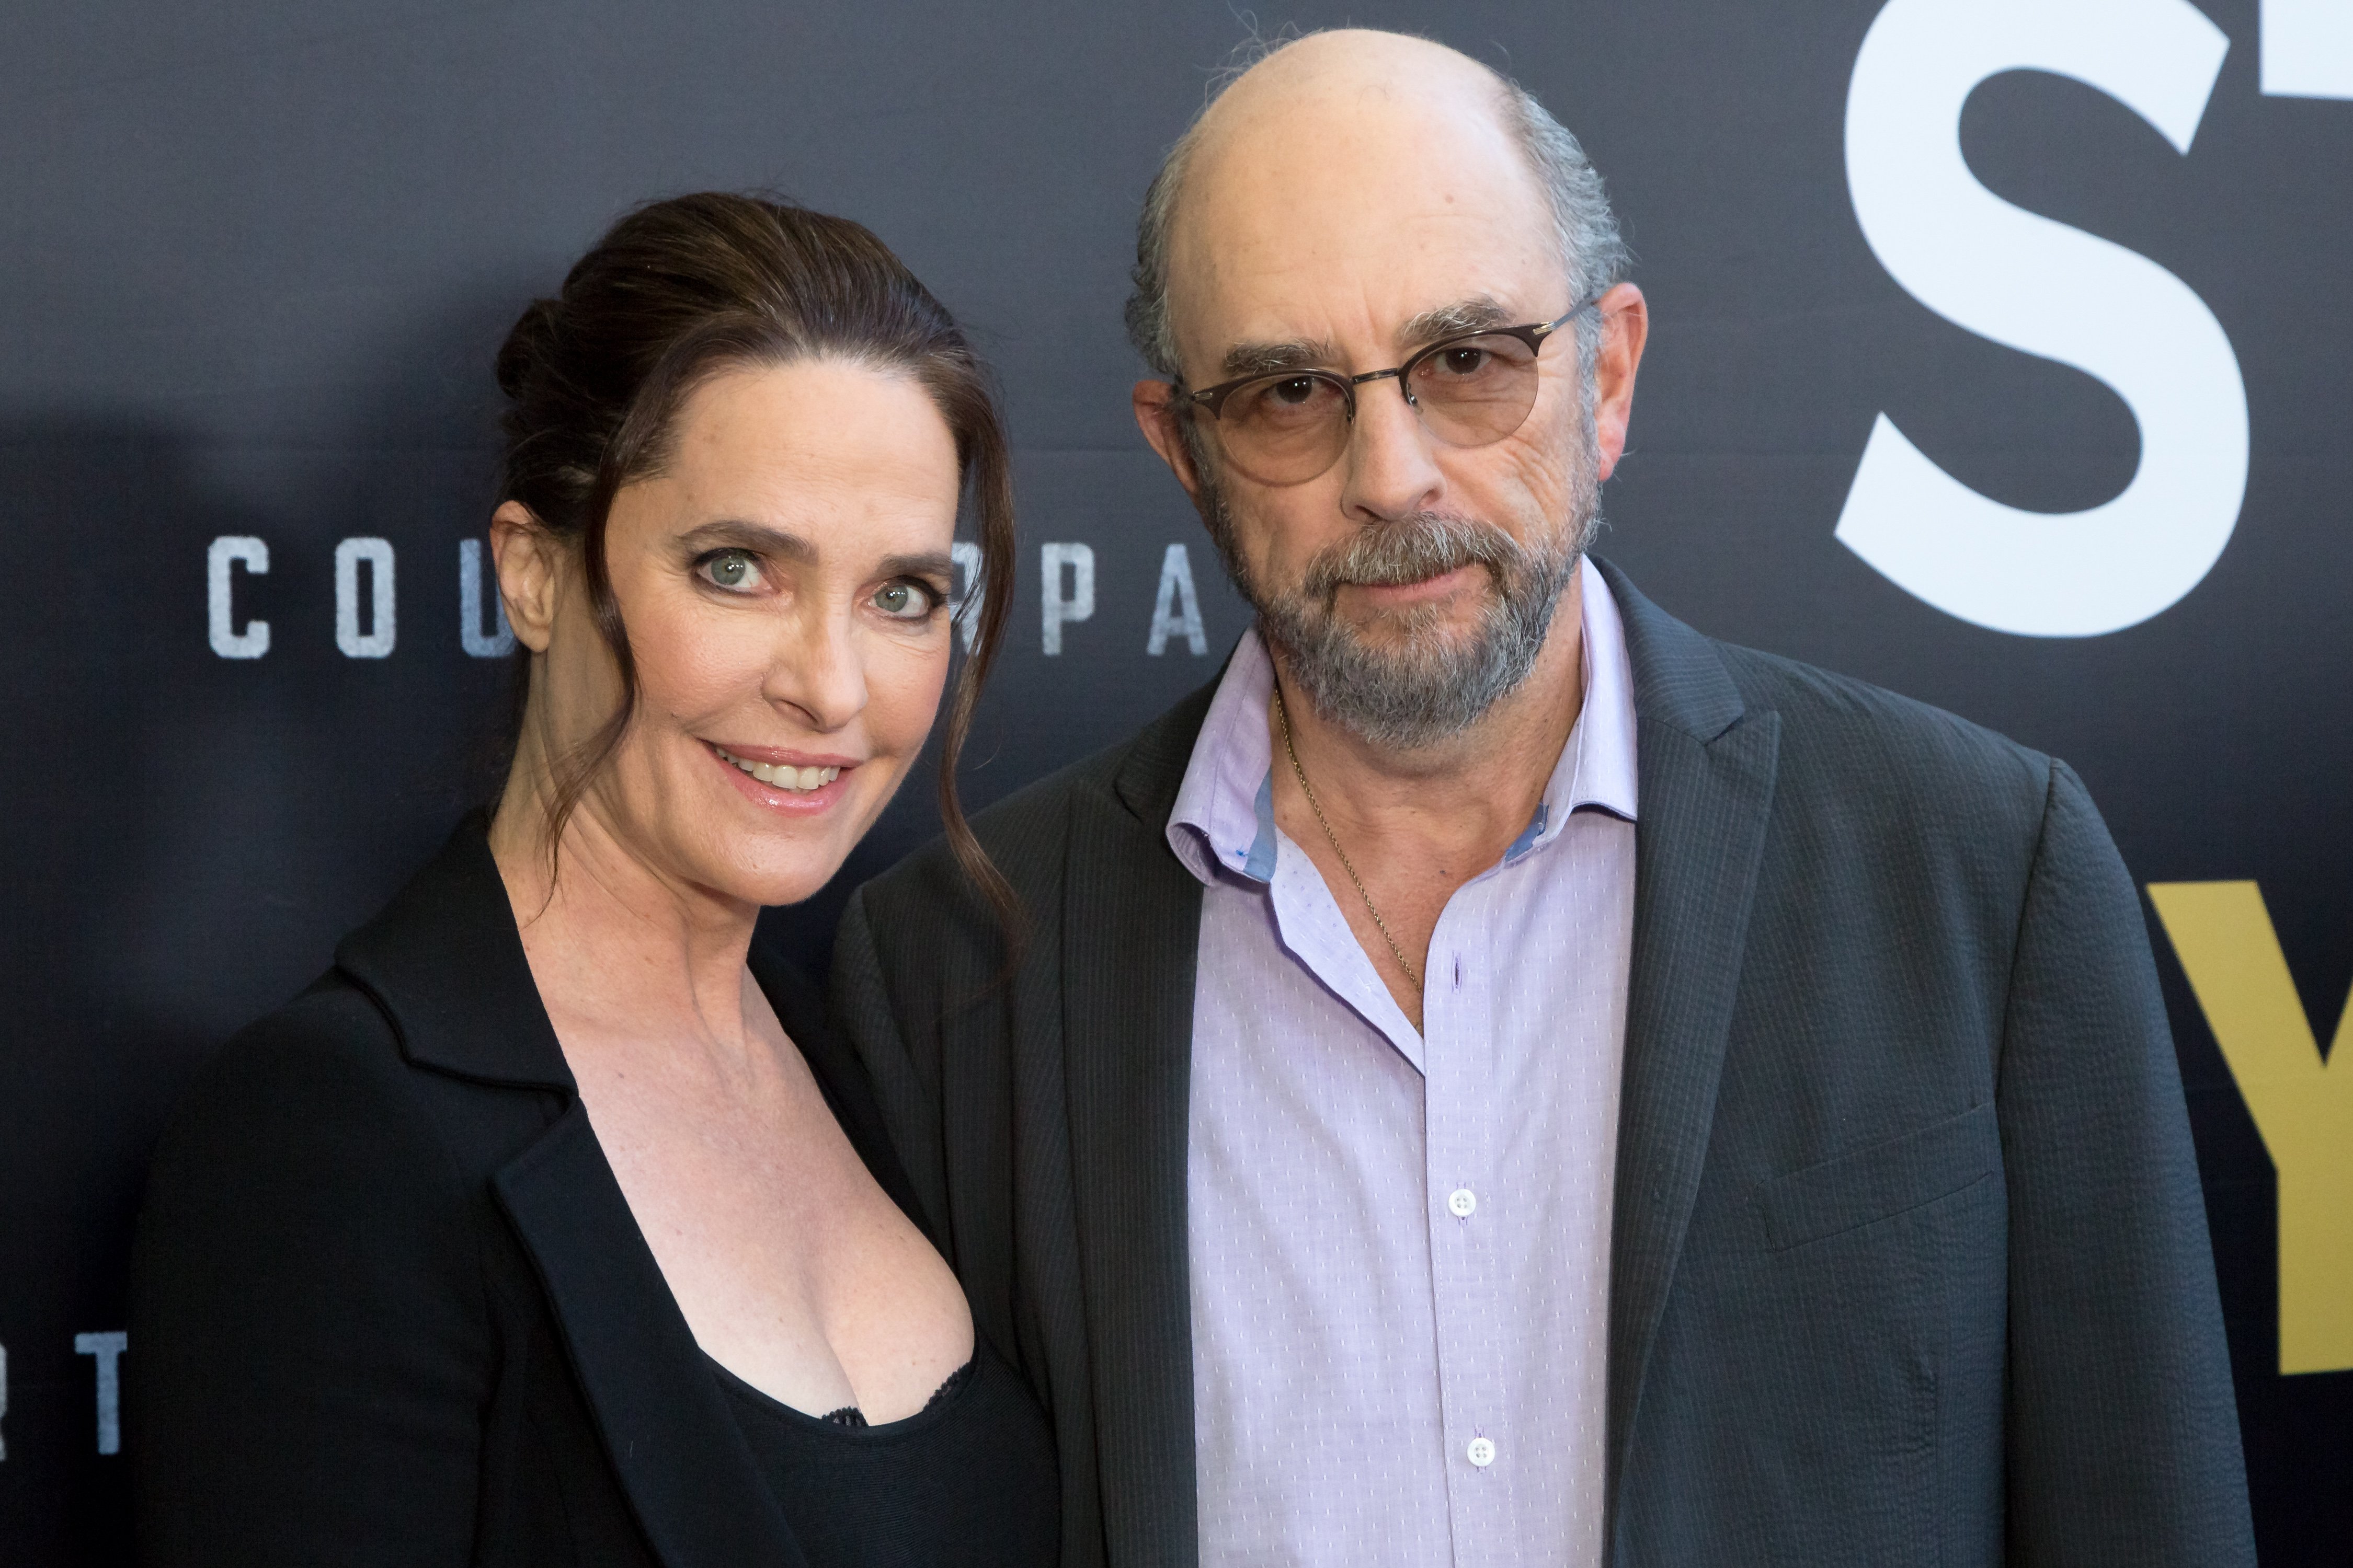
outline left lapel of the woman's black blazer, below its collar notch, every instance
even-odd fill
[[[664,1568],[807,1559],[574,1100],[492,1187]]]

